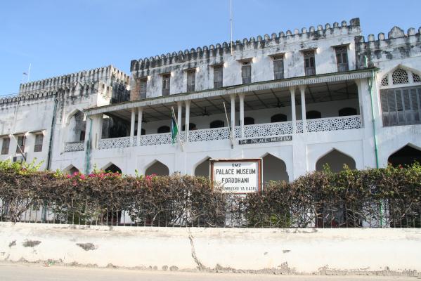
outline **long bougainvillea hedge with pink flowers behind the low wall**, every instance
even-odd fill
[[[226,195],[208,178],[38,171],[0,162],[0,220],[130,226],[420,227],[421,166],[328,168],[260,193]]]

